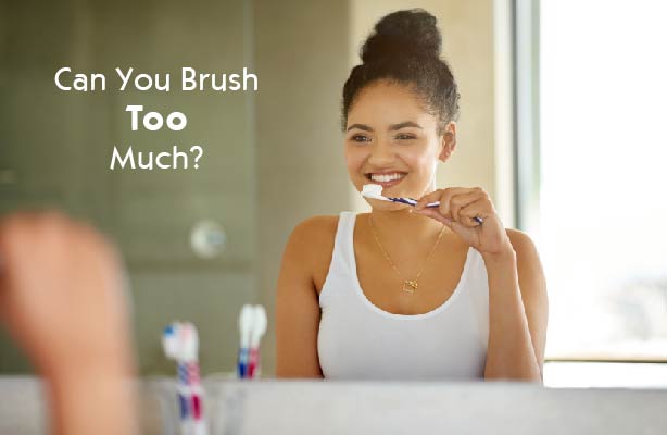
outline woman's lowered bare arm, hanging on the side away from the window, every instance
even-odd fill
[[[319,302],[313,282],[313,248],[317,246],[318,217],[292,232],[278,277],[276,296],[276,375],[323,377],[317,357]]]

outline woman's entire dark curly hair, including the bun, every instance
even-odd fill
[[[450,66],[440,58],[442,36],[437,23],[423,9],[393,12],[377,22],[361,49],[363,63],[352,69],[343,86],[343,132],[360,91],[379,80],[408,86],[437,117],[439,134],[458,119],[461,96]]]

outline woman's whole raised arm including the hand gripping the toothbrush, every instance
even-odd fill
[[[427,208],[431,201],[440,201],[440,207]],[[549,310],[542,264],[530,237],[505,229],[481,187],[438,189],[423,196],[414,212],[444,223],[484,259],[489,278],[484,377],[541,382]]]

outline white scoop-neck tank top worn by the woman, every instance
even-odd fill
[[[489,284],[481,254],[468,248],[452,296],[424,314],[373,304],[356,275],[356,213],[340,213],[329,273],[319,294],[317,352],[327,378],[474,380],[483,377]],[[417,296],[415,296],[417,297]]]

